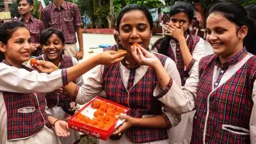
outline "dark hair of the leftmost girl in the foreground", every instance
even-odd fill
[[[13,20],[10,22],[5,22],[4,24],[0,25],[0,42],[2,42],[4,45],[7,44],[8,40],[12,37],[12,34],[18,29],[18,28],[26,28],[22,22]],[[0,51],[0,62],[3,61],[4,54]]]

